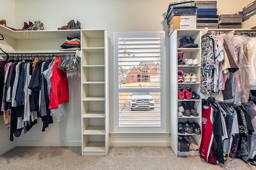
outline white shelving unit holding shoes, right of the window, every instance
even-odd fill
[[[194,43],[198,44],[198,48],[179,48],[179,39],[192,37]],[[200,145],[200,136],[194,134],[180,134],[178,133],[178,122],[197,122],[201,127],[201,115],[202,115],[202,102],[199,100],[178,100],[178,87],[186,88],[190,87],[194,92],[200,95],[200,61],[201,61],[201,30],[200,29],[176,29],[170,35],[170,131],[171,141],[170,147],[176,154],[176,156],[192,156],[199,155],[198,151],[180,152],[178,150],[178,136],[192,136],[196,140],[197,144]],[[198,65],[178,65],[178,52],[184,52],[183,59],[198,59]],[[178,83],[178,70],[182,70],[184,73],[195,73],[197,76],[197,82],[183,82]],[[200,95],[201,96],[201,95]],[[182,101],[195,101],[198,117],[193,116],[182,116],[178,117],[178,107],[181,106]]]

